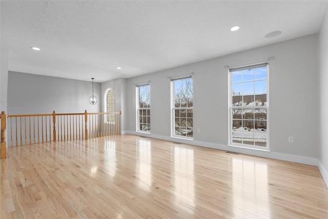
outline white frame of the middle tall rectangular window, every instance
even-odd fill
[[[188,97],[187,97],[187,107],[175,107],[175,82],[176,81],[182,81],[183,79],[192,79],[192,93],[194,92],[194,79],[192,77],[192,75],[190,76],[184,76],[184,77],[177,77],[177,78],[171,78],[171,137],[175,137],[175,138],[181,138],[184,140],[194,140],[194,135],[188,136],[188,133],[185,135],[177,135],[175,134],[175,110],[192,110],[192,114],[194,114],[194,95],[192,94],[192,99],[193,99],[193,104],[192,107],[188,107]],[[180,112],[179,112],[180,113]],[[179,116],[180,118],[180,116]],[[187,112],[186,112],[186,129],[188,129],[188,118],[192,119],[192,124],[194,121],[194,116],[192,117],[187,117]],[[194,125],[192,125],[192,132],[194,131]]]

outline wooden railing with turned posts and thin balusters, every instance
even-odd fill
[[[8,123],[7,123],[8,118]],[[88,138],[121,134],[121,112],[1,114],[1,158],[6,158],[6,129],[9,145],[22,146],[55,141],[88,140]],[[8,127],[7,127],[8,125]]]

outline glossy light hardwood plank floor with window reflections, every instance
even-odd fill
[[[9,148],[0,218],[328,218],[317,167],[135,135]]]

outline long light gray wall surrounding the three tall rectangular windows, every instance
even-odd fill
[[[317,34],[251,49],[128,79],[127,132],[135,132],[135,84],[150,81],[151,137],[233,150],[260,156],[317,164],[318,92]],[[270,62],[270,150],[229,147],[228,70],[224,65],[241,64],[275,56]],[[194,141],[170,137],[169,76],[194,72]],[[288,143],[288,136],[294,143]]]

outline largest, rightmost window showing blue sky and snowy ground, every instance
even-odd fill
[[[263,63],[229,69],[229,145],[269,148],[268,68],[268,63]]]

